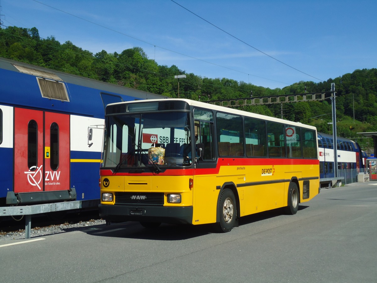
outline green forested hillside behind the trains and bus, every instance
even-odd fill
[[[326,82],[297,82],[283,89],[270,89],[230,78],[207,78],[187,74],[178,66],[158,65],[143,49],[134,47],[121,53],[102,50],[96,54],[75,46],[61,44],[54,36],[40,38],[37,28],[0,28],[0,57],[30,63],[58,71],[115,83],[130,88],[176,97],[174,75],[186,74],[179,82],[179,96],[198,100],[199,95],[210,100],[280,94],[329,91],[336,85],[337,134],[353,137],[357,132],[377,131],[377,69],[350,70],[349,74],[329,78]],[[207,98],[208,99],[208,98]],[[243,110],[270,116],[281,116],[280,105],[245,106]],[[331,101],[298,102],[283,105],[287,120],[315,125],[319,131],[331,133]],[[355,119],[355,120],[354,120]]]

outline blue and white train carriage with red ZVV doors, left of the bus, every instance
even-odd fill
[[[104,107],[161,95],[0,58],[0,206],[99,203]]]

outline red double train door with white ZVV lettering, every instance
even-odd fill
[[[69,115],[15,108],[14,192],[69,188]]]

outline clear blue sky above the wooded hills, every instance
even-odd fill
[[[272,89],[377,68],[375,0],[174,1],[0,0],[0,14],[93,53],[138,46],[159,65]]]

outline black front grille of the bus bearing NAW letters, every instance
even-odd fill
[[[164,205],[164,193],[115,192],[116,205]]]

